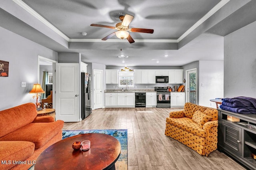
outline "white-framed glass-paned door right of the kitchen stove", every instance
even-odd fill
[[[191,69],[191,70],[186,70],[186,77],[187,77],[187,91],[186,91],[186,95],[187,95],[187,99],[189,103],[194,103],[196,104],[196,93],[197,93],[197,89],[196,89],[196,69]]]

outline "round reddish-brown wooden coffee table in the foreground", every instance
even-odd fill
[[[87,151],[73,150],[75,141],[90,140]],[[120,142],[108,134],[88,133],[65,138],[49,146],[36,160],[35,170],[115,169],[121,153]]]

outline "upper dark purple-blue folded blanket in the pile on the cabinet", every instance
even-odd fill
[[[228,107],[254,107],[256,108],[256,99],[252,97],[234,97],[222,99],[222,105]]]

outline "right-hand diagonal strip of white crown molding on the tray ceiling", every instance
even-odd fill
[[[180,42],[183,38],[188,36],[192,31],[194,31],[198,26],[200,26],[203,22],[205,22],[210,16],[212,16],[215,12],[217,12],[222,6],[228,3],[230,0],[221,0],[216,6],[214,6],[209,12],[207,12],[198,22],[196,22],[192,27],[190,27],[180,38],[178,38],[178,42]]]

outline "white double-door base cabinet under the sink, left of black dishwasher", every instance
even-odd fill
[[[117,93],[117,105],[135,107],[135,93]]]

